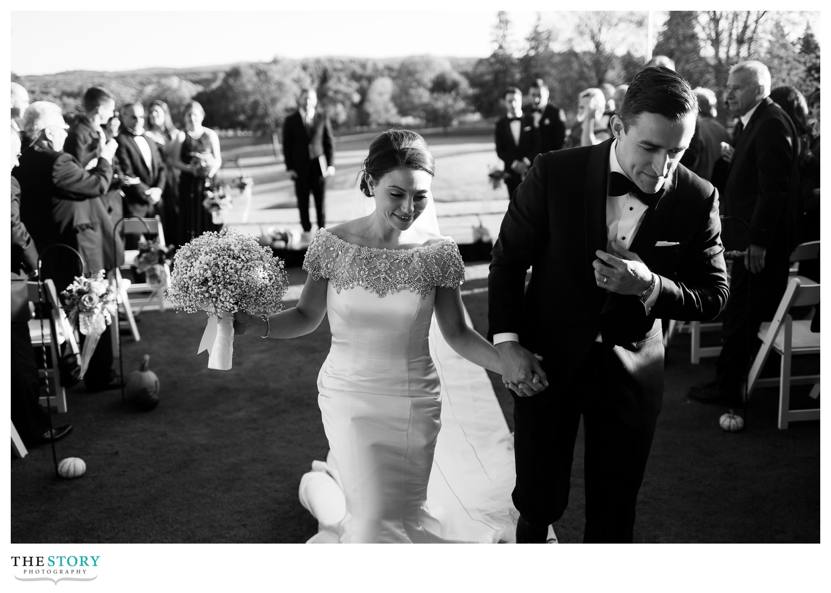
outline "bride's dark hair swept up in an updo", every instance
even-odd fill
[[[435,175],[435,161],[427,143],[414,131],[393,129],[387,130],[372,141],[369,154],[363,162],[361,170],[361,191],[370,197],[370,178],[379,180],[391,170],[399,167],[423,170]]]

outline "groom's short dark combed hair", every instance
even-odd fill
[[[628,131],[642,113],[657,113],[669,121],[681,121],[698,113],[698,97],[680,74],[662,66],[638,72],[623,97],[618,111],[623,129]]]

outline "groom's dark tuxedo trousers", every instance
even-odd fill
[[[544,533],[568,506],[574,445],[582,417],[583,541],[632,541],[637,492],[652,447],[656,416],[641,423],[624,421],[614,400],[618,393],[615,382],[622,378],[609,372],[604,363],[608,356],[604,346],[595,343],[566,388],[547,388],[524,398],[514,394],[514,506],[534,531]],[[657,363],[662,370],[662,358]],[[555,364],[552,361],[549,366]]]

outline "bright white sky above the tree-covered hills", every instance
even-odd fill
[[[526,3],[514,0],[511,6],[518,9],[509,11],[517,47],[537,16],[533,4],[522,9]],[[229,12],[232,5],[242,10]],[[275,56],[487,57],[493,51],[499,8],[491,0],[422,0],[407,5],[419,7],[417,11],[401,10],[390,2],[315,0],[308,5],[315,10],[286,11],[274,9],[273,4],[226,0],[201,2],[199,10],[184,11],[175,8],[193,8],[194,4],[169,0],[140,4],[164,6],[165,11],[121,11],[113,10],[116,2],[88,1],[85,7],[103,8],[82,12],[66,11],[62,2],[41,0],[38,11],[7,12],[12,33],[10,66],[12,72],[26,76],[69,70],[212,66],[269,61]],[[343,10],[345,5],[357,8]],[[569,27],[567,13],[543,11],[542,16],[548,27]],[[662,22],[656,19],[656,27]],[[95,42],[87,34],[86,42],[67,42],[66,32],[71,31],[100,32],[101,40]],[[38,32],[37,42],[32,32]],[[128,49],[120,39],[129,32],[136,32],[145,42]]]

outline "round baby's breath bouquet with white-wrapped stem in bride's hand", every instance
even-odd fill
[[[267,317],[283,310],[284,265],[253,236],[232,228],[203,233],[176,252],[166,297],[175,309],[211,316],[197,351],[209,350],[208,368],[231,368],[234,312]]]

